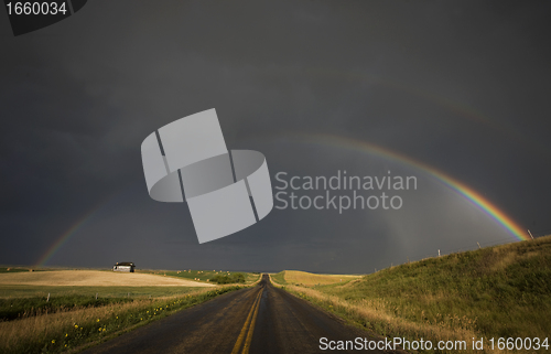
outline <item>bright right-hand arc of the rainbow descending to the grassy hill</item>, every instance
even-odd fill
[[[530,239],[530,236],[519,224],[517,224],[517,222],[515,222],[510,216],[505,214],[501,210],[499,210],[496,205],[494,205],[490,201],[485,199],[478,192],[476,192],[468,185],[449,176],[447,174],[423,162],[413,160],[403,154],[399,154],[395,151],[379,147],[375,143],[354,138],[345,138],[327,133],[288,133],[284,137],[296,138],[300,142],[310,142],[322,146],[333,146],[359,152],[368,152],[385,159],[395,160],[403,164],[421,169],[422,171],[428,172],[432,176],[436,178],[439,181],[443,182],[445,185],[447,185],[458,194],[466,197],[473,204],[478,206],[482,211],[484,211],[487,215],[489,215],[491,218],[498,222],[517,239],[519,240]]]

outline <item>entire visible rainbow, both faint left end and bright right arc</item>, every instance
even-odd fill
[[[295,139],[298,142],[313,143],[321,146],[336,147],[341,149],[348,149],[364,153],[370,153],[378,155],[383,159],[389,159],[409,167],[420,169],[430,175],[434,176],[436,180],[441,181],[460,195],[475,204],[478,208],[494,218],[499,225],[501,225],[510,235],[512,235],[518,240],[528,240],[530,236],[528,233],[510,216],[508,216],[504,211],[501,211],[497,205],[493,204],[490,201],[485,199],[480,193],[476,192],[463,182],[436,170],[435,168],[428,165],[421,161],[414,160],[404,154],[395,152],[387,148],[377,146],[371,142],[367,142],[359,139],[341,137],[327,133],[287,133],[285,138]],[[47,248],[47,250],[40,257],[36,262],[37,267],[45,266],[46,262],[55,255],[60,248],[67,243],[73,235],[75,235],[78,229],[80,229],[87,222],[89,222],[94,215],[101,210],[101,207],[107,202],[100,202],[95,205],[89,212],[77,219],[65,233],[63,233],[53,244]]]

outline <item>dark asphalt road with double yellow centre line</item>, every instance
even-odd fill
[[[83,353],[343,352],[322,350],[322,337],[327,341],[375,340],[367,332],[349,326],[341,319],[273,287],[264,275],[257,287],[219,296]],[[350,351],[358,352],[388,353]]]

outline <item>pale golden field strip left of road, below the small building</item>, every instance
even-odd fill
[[[0,273],[0,285],[79,287],[214,287],[210,283],[137,272],[52,270]]]

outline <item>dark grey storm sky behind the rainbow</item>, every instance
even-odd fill
[[[369,272],[515,238],[422,169],[551,230],[548,2],[88,1],[14,37],[0,10],[0,264]],[[229,149],[274,174],[415,175],[400,211],[273,210],[198,245],[147,192],[140,144],[216,108]],[[83,221],[80,223],[80,221]]]

